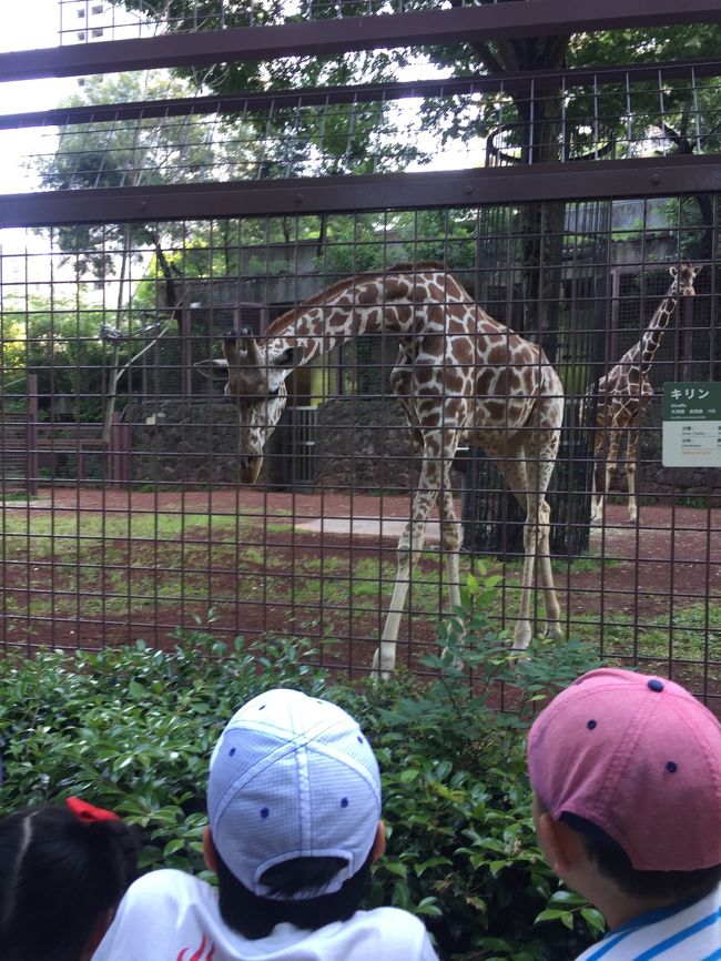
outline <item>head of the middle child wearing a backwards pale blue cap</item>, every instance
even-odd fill
[[[221,912],[246,937],[349,918],[383,850],[370,745],[344,710],[297,690],[253,698],[227,724],[207,811]]]

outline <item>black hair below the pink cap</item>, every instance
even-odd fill
[[[599,873],[629,898],[681,903],[705,898],[721,881],[721,864],[697,871],[640,871],[623,848],[586,818],[563,813],[560,820],[579,833]]]

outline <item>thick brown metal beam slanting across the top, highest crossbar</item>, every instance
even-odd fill
[[[632,27],[719,22],[718,0],[514,0],[450,10],[349,17],[238,30],[164,33],[0,54],[0,80],[78,77],[352,50],[549,37]]]

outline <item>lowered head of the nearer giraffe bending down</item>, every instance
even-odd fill
[[[265,445],[285,409],[285,378],[295,366],[296,351],[271,342],[262,345],[247,333],[223,338],[222,361],[195,367],[206,377],[225,381],[225,394],[237,407],[238,456],[242,484],[254,484],[263,466]]]

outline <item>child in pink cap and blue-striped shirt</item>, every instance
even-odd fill
[[[528,738],[539,844],[609,931],[577,961],[721,959],[721,725],[673,681],[601,668]]]

